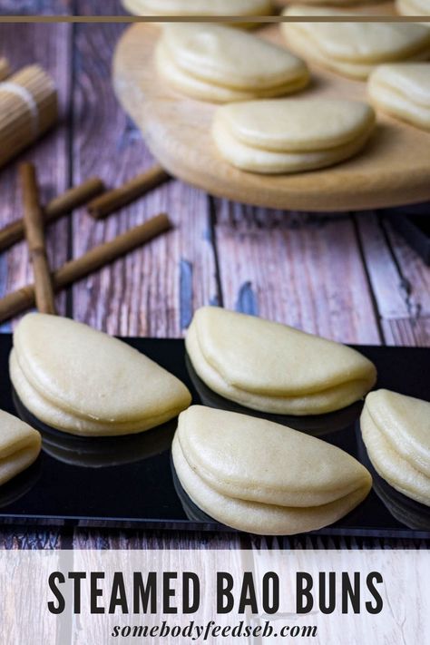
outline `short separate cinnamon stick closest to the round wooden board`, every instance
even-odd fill
[[[96,220],[101,220],[115,210],[120,210],[122,207],[132,203],[132,201],[143,197],[147,192],[169,179],[169,174],[161,166],[153,166],[151,170],[137,175],[137,177],[127,181],[120,188],[107,191],[91,201],[88,204],[88,212]]]

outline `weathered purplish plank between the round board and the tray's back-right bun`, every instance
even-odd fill
[[[379,344],[350,217],[217,203],[224,305],[349,343]]]

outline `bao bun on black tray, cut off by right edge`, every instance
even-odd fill
[[[378,474],[430,506],[430,403],[388,390],[366,396],[361,432]]]

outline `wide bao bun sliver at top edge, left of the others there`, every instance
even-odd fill
[[[270,15],[271,0],[122,0],[135,15]]]

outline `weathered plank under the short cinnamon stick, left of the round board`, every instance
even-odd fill
[[[77,29],[75,181],[92,171],[118,186],[153,163],[112,93],[112,44],[120,32],[119,25]],[[73,255],[160,211],[170,215],[175,230],[73,288],[74,318],[111,333],[179,336],[189,322],[187,311],[216,297],[208,198],[179,182],[161,186],[104,222],[77,213]]]

